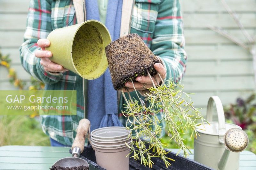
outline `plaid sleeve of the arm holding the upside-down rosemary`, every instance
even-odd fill
[[[159,5],[151,50],[164,63],[166,80],[179,83],[186,70],[183,21],[179,0],[163,0]]]

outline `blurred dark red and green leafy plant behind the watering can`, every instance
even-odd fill
[[[256,94],[237,98],[235,104],[224,107],[225,117],[240,126],[249,137],[248,150],[256,153]]]

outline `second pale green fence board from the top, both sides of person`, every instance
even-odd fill
[[[238,14],[245,28],[256,27],[256,15],[254,13]],[[0,30],[25,30],[27,14],[0,14]],[[186,28],[205,28],[208,25],[221,26],[223,28],[237,28],[236,23],[229,14],[216,13],[193,13],[183,14],[184,27]]]

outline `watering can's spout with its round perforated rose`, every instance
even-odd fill
[[[226,146],[225,151],[223,152],[220,161],[218,163],[218,170],[225,168],[228,156],[231,152],[242,152],[248,145],[248,136],[244,130],[239,128],[229,129],[223,138],[223,142]]]

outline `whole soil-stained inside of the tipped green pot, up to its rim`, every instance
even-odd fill
[[[72,45],[72,59],[81,77],[95,79],[106,71],[108,62],[104,48],[110,42],[108,30],[98,22],[79,28]]]

